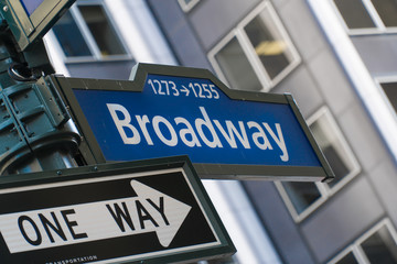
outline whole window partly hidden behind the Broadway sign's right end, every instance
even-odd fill
[[[313,136],[324,153],[335,179],[324,183],[277,182],[287,207],[296,221],[301,221],[328,197],[342,188],[360,172],[360,166],[326,108],[320,109],[308,120]]]

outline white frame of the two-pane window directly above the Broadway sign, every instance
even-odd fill
[[[291,62],[289,65],[283,68],[273,79],[270,79],[268,73],[260,62],[259,56],[255,52],[255,47],[251,45],[247,33],[244,28],[253,21],[257,15],[262,11],[267,11],[270,14],[271,21],[275,24],[278,33],[281,35],[282,40],[286,42],[288,51],[291,53]],[[237,38],[238,44],[240,45],[245,56],[247,57],[250,66],[254,69],[260,85],[260,92],[267,92],[277,86],[282,79],[285,79],[300,63],[301,57],[293,45],[289,34],[287,33],[286,28],[283,26],[280,18],[278,16],[275,8],[269,1],[264,1],[257,6],[250,13],[248,13],[232,31],[229,31],[207,54],[207,58],[212,64],[215,73],[219,79],[230,87],[229,82],[226,79],[219,64],[216,61],[216,54],[218,54],[234,37]]]

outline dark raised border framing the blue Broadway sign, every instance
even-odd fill
[[[51,76],[49,80],[56,87],[64,101],[69,106],[72,117],[82,132],[84,141],[79,147],[82,155],[88,164],[106,163],[94,132],[89,128],[88,121],[78,105],[73,89],[96,89],[96,90],[128,90],[142,91],[148,75],[164,75],[187,78],[210,79],[227,97],[233,100],[259,101],[289,105],[310,142],[321,167],[309,166],[266,166],[266,165],[223,165],[223,164],[197,164],[194,167],[201,178],[212,179],[268,179],[268,180],[294,180],[294,182],[331,182],[334,178],[324,154],[316,144],[308,124],[301,114],[297,102],[290,94],[268,94],[233,90],[226,87],[210,70],[203,68],[190,68],[180,66],[137,64],[131,72],[132,80],[104,80],[104,79],[82,79]],[[111,161],[110,161],[111,162]]]

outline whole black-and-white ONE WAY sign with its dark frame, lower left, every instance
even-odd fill
[[[0,263],[174,263],[235,253],[186,156],[2,177],[0,231]]]

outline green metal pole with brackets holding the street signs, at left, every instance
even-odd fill
[[[79,135],[45,75],[53,69],[42,41],[20,52],[0,26],[0,175],[77,166]]]

